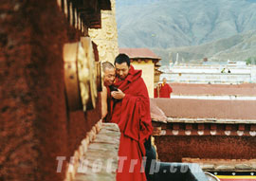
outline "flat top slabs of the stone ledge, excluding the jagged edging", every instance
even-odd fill
[[[116,179],[119,136],[117,124],[102,123],[101,131],[82,156],[82,164],[76,173],[75,181],[112,181]]]

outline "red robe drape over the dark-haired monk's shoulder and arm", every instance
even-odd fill
[[[144,81],[138,81],[135,89],[125,93],[121,105],[119,128],[124,135],[137,141],[144,141],[152,134],[150,101]]]

